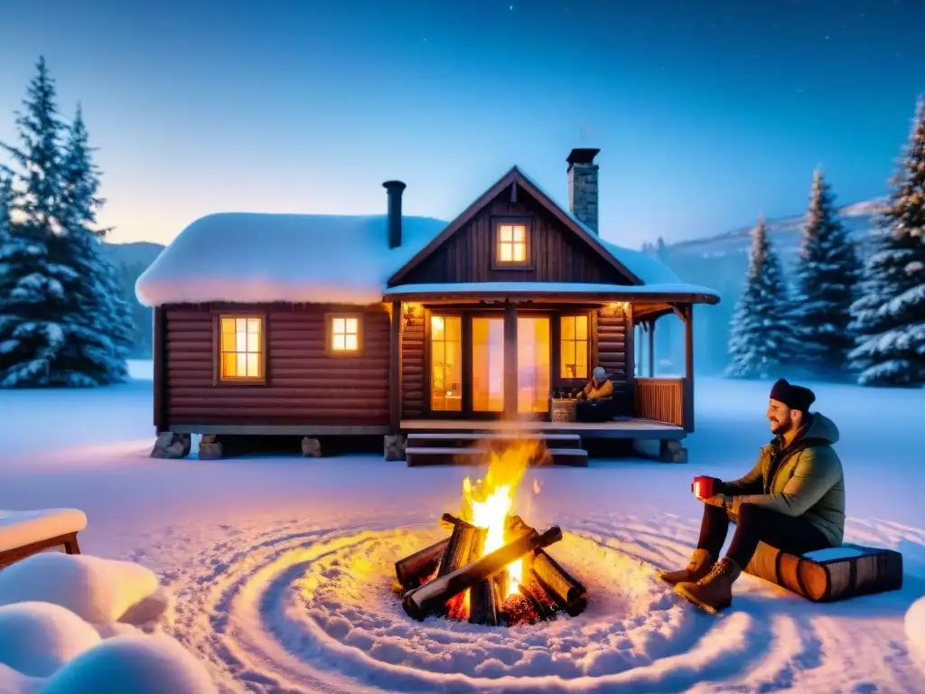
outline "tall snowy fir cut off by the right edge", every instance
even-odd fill
[[[851,353],[864,386],[925,385],[925,98],[875,232]]]

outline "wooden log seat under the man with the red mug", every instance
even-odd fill
[[[903,555],[845,544],[797,556],[760,542],[746,572],[807,600],[831,602],[902,588]]]

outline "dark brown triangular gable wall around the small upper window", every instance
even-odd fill
[[[493,269],[495,221],[510,217],[531,221],[532,263],[529,268]],[[524,191],[516,203],[509,192],[500,193],[401,279],[402,284],[510,281],[631,284]]]

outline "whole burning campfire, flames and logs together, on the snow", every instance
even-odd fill
[[[514,492],[539,444],[487,450],[484,479],[462,481],[462,510],[443,514],[450,537],[395,563],[405,612],[487,626],[534,624],[586,606],[586,589],[546,551],[559,527],[538,532],[513,514]]]

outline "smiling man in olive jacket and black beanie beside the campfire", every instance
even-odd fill
[[[734,482],[712,478],[704,502],[700,539],[690,564],[661,572],[685,600],[710,613],[728,607],[733,582],[758,549],[759,540],[791,554],[837,547],[845,534],[845,477],[832,444],[838,428],[828,417],[809,413],[812,390],[781,378],[771,389],[767,417],[776,438],[764,446],[758,464]],[[720,557],[729,522],[735,533]]]

